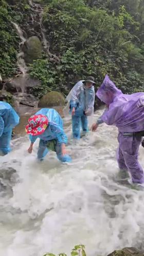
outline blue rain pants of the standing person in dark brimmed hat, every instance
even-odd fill
[[[84,132],[88,131],[88,120],[86,115],[73,115],[72,116],[72,129],[75,139],[80,139],[81,126]]]

